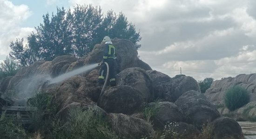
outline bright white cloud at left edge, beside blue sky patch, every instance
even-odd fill
[[[13,5],[8,0],[0,0],[0,60],[8,55],[11,41],[27,38],[33,28],[21,28],[19,25],[32,14],[26,5]],[[26,40],[25,40],[26,41]]]

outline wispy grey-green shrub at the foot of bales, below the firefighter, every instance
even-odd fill
[[[69,109],[67,121],[55,119],[47,135],[50,139],[117,139],[101,114],[93,107]]]

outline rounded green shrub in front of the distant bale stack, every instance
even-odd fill
[[[247,90],[241,86],[231,87],[224,93],[224,103],[230,111],[247,104],[249,99]]]

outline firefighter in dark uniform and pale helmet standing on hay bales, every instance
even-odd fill
[[[101,69],[99,73],[99,83],[103,84],[104,79],[106,78],[107,65],[104,62],[108,63],[109,66],[109,82],[111,86],[116,86],[115,82],[115,46],[113,46],[111,39],[108,36],[103,38],[104,51],[103,51],[103,63],[101,64]]]

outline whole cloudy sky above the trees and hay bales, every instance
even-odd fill
[[[0,60],[56,6],[123,12],[141,32],[141,60],[197,81],[256,73],[256,0],[0,0]]]

